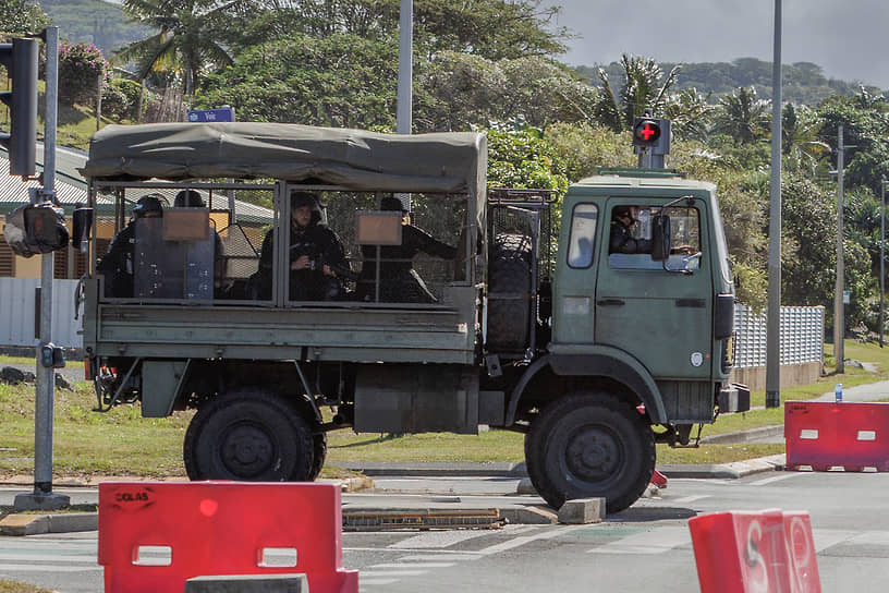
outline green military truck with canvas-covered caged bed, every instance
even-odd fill
[[[604,171],[557,207],[548,192],[488,190],[486,165],[476,133],[98,132],[83,171],[92,206],[113,199],[119,229],[127,205],[166,198],[161,219],[134,220],[123,295],[96,266],[111,221],[86,208],[75,220],[92,219],[75,241],[88,238],[78,307],[99,408],[196,409],[184,443],[192,480],[313,480],[326,433],[339,428],[519,431],[551,506],[602,496],[609,512],[629,507],[650,481],[656,443],[686,445],[695,424],[750,406],[728,384],[734,299],[715,186],[666,170]],[[198,207],[171,206],[182,190],[200,194]],[[290,298],[294,191],[320,198],[342,242],[351,269],[338,270],[336,298]],[[388,196],[455,247],[452,259],[407,264],[434,302],[380,298],[380,254],[409,220],[380,208]],[[252,205],[263,203],[268,210]],[[649,253],[609,253],[619,207]],[[268,229],[280,232],[264,291]],[[375,290],[356,299],[362,270]]]

